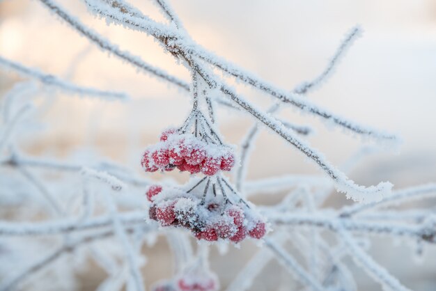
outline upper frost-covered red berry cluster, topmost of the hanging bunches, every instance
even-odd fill
[[[147,172],[157,170],[180,171],[215,175],[218,171],[230,171],[235,165],[233,150],[217,143],[206,143],[193,134],[179,134],[168,129],[160,136],[160,142],[143,153],[141,165]]]

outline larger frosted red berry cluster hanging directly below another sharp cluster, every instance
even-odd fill
[[[162,190],[159,185],[150,186],[146,196],[153,203],[150,219],[161,226],[187,228],[197,239],[238,243],[247,236],[260,239],[267,230],[265,221],[243,203],[226,203],[217,196],[206,200],[205,195],[199,198],[182,189]]]

